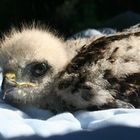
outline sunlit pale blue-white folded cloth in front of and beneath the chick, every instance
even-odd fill
[[[74,131],[96,130],[106,126],[140,127],[140,109],[65,112],[54,115],[36,108],[16,109],[0,103],[0,134],[5,138],[37,134],[48,137]],[[26,112],[26,113],[25,113]]]

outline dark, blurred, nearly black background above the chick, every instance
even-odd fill
[[[134,17],[139,22],[140,0],[0,0],[0,31],[32,21],[55,28],[65,36],[87,28],[121,29],[122,23],[115,25],[110,19],[126,11],[137,13]],[[133,16],[129,20],[133,24]]]

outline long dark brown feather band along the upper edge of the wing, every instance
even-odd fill
[[[103,53],[105,53],[106,46],[113,41],[119,41],[130,36],[140,36],[140,28],[137,30],[128,30],[127,32],[121,32],[109,36],[102,36],[96,40],[91,40],[91,43],[84,45],[79,50],[78,54],[72,59],[72,61],[67,65],[66,71],[72,73],[73,71],[79,70],[85,64],[90,64],[93,61],[101,59]]]

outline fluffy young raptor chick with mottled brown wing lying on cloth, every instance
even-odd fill
[[[0,43],[3,100],[53,112],[140,107],[139,45],[139,26],[76,41],[12,30]]]

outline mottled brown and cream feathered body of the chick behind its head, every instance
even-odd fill
[[[80,49],[58,90],[73,109],[140,107],[140,28],[102,36]]]

